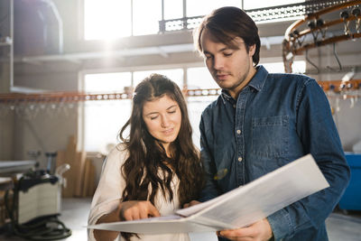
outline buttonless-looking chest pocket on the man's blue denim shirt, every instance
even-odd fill
[[[252,154],[256,157],[283,157],[288,153],[289,116],[252,118]]]

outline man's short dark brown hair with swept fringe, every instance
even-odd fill
[[[200,53],[203,52],[200,37],[205,30],[210,33],[213,42],[222,42],[231,48],[235,47],[233,41],[236,37],[244,40],[247,52],[249,47],[255,44],[255,54],[252,60],[255,66],[258,64],[261,47],[258,28],[252,18],[243,10],[225,6],[205,16],[202,23],[193,32],[194,43]]]

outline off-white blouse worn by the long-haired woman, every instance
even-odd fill
[[[127,157],[125,145],[118,144],[106,157],[103,164],[102,174],[100,176],[97,190],[91,202],[90,213],[88,217],[88,225],[97,223],[97,219],[103,215],[112,212],[118,207],[122,199],[122,193],[125,189],[125,178],[121,174],[121,166]],[[179,179],[177,175],[173,175],[171,181],[171,189],[178,190]],[[155,195],[155,208],[157,208],[161,216],[174,214],[176,209],[180,209],[180,202],[178,191],[173,191],[172,201],[166,200],[162,196],[162,192],[158,190]],[[174,241],[188,241],[190,236],[188,234],[162,234],[162,235],[139,235],[140,238],[132,236],[131,240],[142,241],[160,241],[160,240],[174,240]],[[88,230],[88,240],[96,240],[93,230]],[[124,240],[122,236],[117,236],[116,240]]]

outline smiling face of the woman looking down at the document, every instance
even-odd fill
[[[164,95],[143,105],[143,121],[148,132],[163,145],[167,151],[180,132],[181,113],[178,103]]]

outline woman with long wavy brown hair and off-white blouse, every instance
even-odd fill
[[[125,138],[125,129],[130,134]],[[107,156],[88,224],[171,215],[197,199],[203,183],[199,152],[180,88],[153,74],[134,89],[133,110]],[[135,235],[90,230],[90,239],[189,240],[187,234]]]

